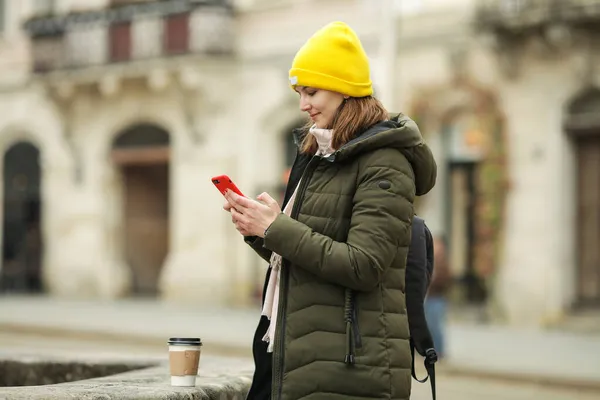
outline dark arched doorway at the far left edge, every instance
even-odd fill
[[[5,292],[43,290],[40,152],[18,142],[4,153],[2,279]]]

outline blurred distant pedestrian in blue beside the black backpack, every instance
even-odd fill
[[[434,268],[427,298],[425,299],[425,318],[433,337],[433,344],[439,358],[446,355],[446,319],[448,310],[448,292],[452,285],[446,241],[436,236],[434,246]]]

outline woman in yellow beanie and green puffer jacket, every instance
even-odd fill
[[[372,97],[356,34],[331,23],[299,50],[291,87],[312,122],[283,210],[227,193],[236,229],[270,262],[248,399],[408,399],[404,270],[413,200],[436,165],[417,126]]]

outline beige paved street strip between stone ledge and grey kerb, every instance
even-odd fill
[[[0,357],[16,354],[53,358],[92,357],[165,361],[167,356],[166,346],[152,344],[119,344],[76,338],[44,338],[31,334],[0,333]],[[239,370],[246,367],[252,367],[251,360],[247,357],[203,355],[201,359],[201,368],[205,369]],[[464,378],[443,373],[438,377],[438,381],[440,400],[597,400],[600,396],[599,393],[582,393],[573,389],[544,388],[534,384]],[[412,399],[430,400],[429,384],[413,381]]]

